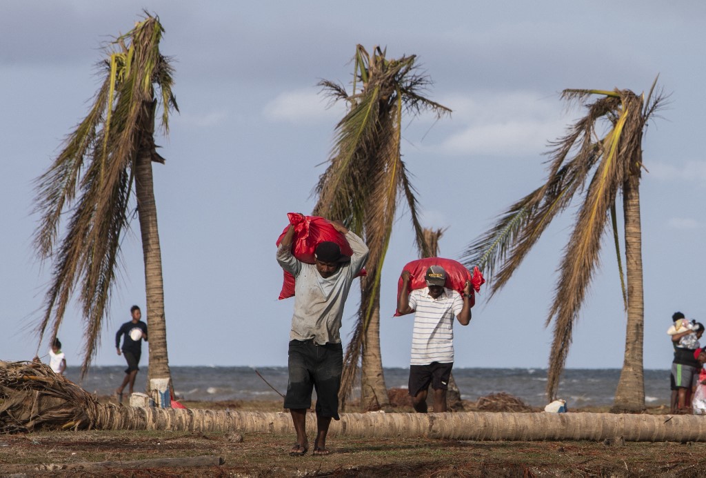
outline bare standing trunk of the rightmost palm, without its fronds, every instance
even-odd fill
[[[640,162],[637,162],[639,165]],[[642,339],[645,302],[642,295],[642,229],[640,227],[640,171],[633,171],[623,184],[625,253],[628,280],[628,325],[625,360],[611,411],[645,410],[645,382],[642,369]]]

